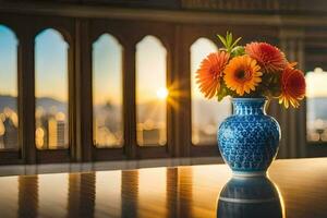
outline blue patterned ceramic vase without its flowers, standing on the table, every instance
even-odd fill
[[[219,126],[218,147],[233,174],[266,174],[277,155],[280,128],[266,114],[266,101],[265,98],[234,98],[233,116]]]

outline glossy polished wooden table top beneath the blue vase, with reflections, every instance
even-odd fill
[[[327,158],[0,177],[0,217],[327,217]]]

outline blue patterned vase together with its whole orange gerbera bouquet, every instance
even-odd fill
[[[305,95],[305,78],[295,62],[267,43],[239,46],[241,38],[218,35],[223,48],[209,53],[196,72],[206,98],[232,97],[234,112],[218,130],[218,147],[234,173],[265,174],[278,152],[280,128],[266,114],[267,100],[278,98],[298,108]]]

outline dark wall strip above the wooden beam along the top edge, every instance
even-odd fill
[[[251,14],[324,14],[325,0],[1,0],[0,3],[108,5],[134,9],[220,11]]]

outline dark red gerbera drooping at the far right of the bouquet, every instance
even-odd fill
[[[286,108],[289,105],[298,108],[299,100],[305,95],[305,78],[302,71],[288,65],[281,74],[281,95],[279,104],[283,104]]]

